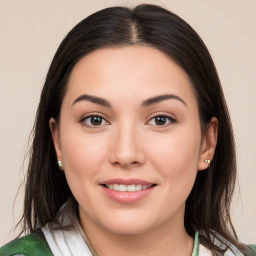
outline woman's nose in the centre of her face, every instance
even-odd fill
[[[116,127],[112,137],[109,161],[123,168],[139,166],[145,161],[142,136],[133,125]]]

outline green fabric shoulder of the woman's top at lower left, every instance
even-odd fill
[[[52,256],[52,252],[40,230],[14,239],[0,248],[0,256],[38,255]]]

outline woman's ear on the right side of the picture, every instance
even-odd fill
[[[218,120],[212,117],[207,125],[207,130],[202,138],[201,151],[198,159],[198,170],[204,170],[209,166],[205,159],[212,160],[217,143]]]

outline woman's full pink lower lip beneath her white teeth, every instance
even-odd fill
[[[115,191],[105,186],[102,186],[104,192],[110,199],[119,203],[127,203],[127,204],[137,202],[142,198],[144,198],[145,196],[149,195],[153,191],[154,187],[155,186],[151,186],[149,188],[142,189],[139,191],[126,192],[126,191]]]

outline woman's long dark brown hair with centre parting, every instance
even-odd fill
[[[185,205],[185,228],[204,230],[201,242],[213,229],[243,251],[230,220],[230,201],[236,179],[232,127],[221,85],[210,54],[198,34],[183,19],[155,5],[109,7],[75,25],[64,37],[50,64],[42,88],[33,129],[26,177],[23,231],[52,220],[60,206],[73,198],[64,172],[58,169],[49,119],[59,119],[70,72],[88,52],[102,47],[145,45],[159,49],[189,76],[197,98],[202,133],[212,116],[218,119],[218,140],[210,167],[198,171]],[[74,198],[73,198],[74,200]],[[244,252],[246,254],[246,252]]]

